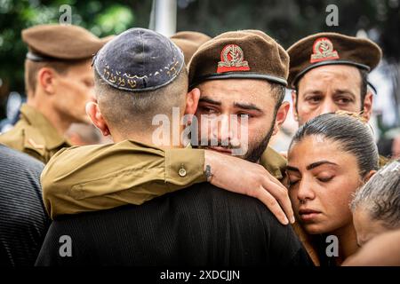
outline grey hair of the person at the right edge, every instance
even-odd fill
[[[372,220],[380,220],[388,229],[400,228],[400,160],[387,164],[361,187],[351,202],[354,212],[360,208]]]

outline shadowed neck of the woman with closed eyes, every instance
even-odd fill
[[[341,227],[331,234],[337,236],[339,240],[339,256],[335,258],[335,262],[340,265],[348,256],[356,253],[358,249],[356,229],[353,222],[350,222],[350,224]]]

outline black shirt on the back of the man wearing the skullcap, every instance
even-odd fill
[[[60,237],[72,256],[60,256]],[[65,247],[64,247],[65,248]],[[258,200],[204,183],[140,206],[53,221],[37,265],[312,265]]]

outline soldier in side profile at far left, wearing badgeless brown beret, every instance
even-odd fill
[[[20,108],[20,121],[0,136],[0,143],[46,163],[71,146],[64,138],[71,123],[90,122],[84,104],[93,97],[91,59],[106,40],[64,25],[25,29],[22,40],[28,44],[28,101]]]

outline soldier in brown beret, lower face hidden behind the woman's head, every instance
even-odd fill
[[[293,114],[300,125],[320,114],[337,110],[372,114],[372,92],[367,76],[381,59],[371,40],[336,33],[319,33],[294,43],[289,87]]]

